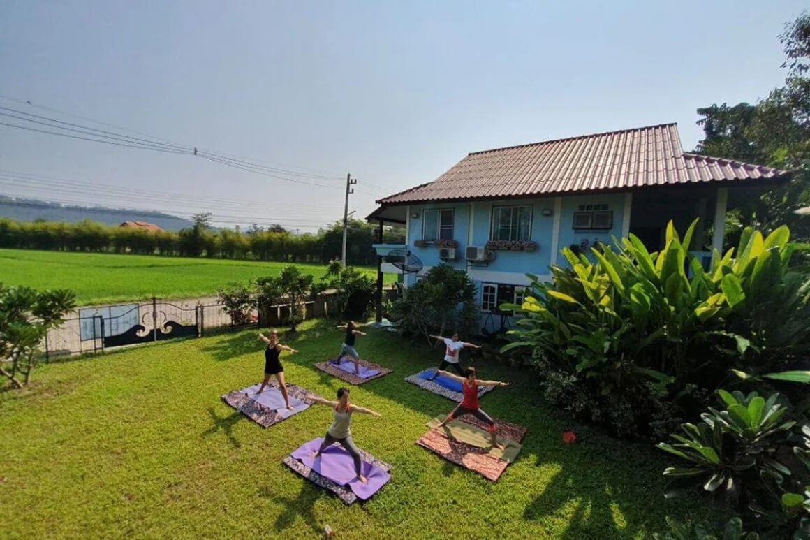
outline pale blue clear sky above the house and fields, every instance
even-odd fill
[[[678,122],[689,151],[696,109],[782,84],[778,34],[805,6],[3,0],[0,106],[287,179],[0,126],[0,194],[305,232],[342,218],[347,174],[364,217],[487,148]]]

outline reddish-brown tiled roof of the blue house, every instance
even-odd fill
[[[433,182],[377,201],[492,199],[787,178],[787,171],[684,153],[676,124],[472,152]]]

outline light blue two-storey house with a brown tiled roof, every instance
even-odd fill
[[[406,286],[442,262],[466,270],[487,333],[504,324],[498,305],[521,300],[527,273],[550,279],[549,266],[565,264],[563,247],[588,253],[633,233],[657,251],[668,221],[684,231],[699,217],[690,250],[710,261],[723,246],[727,208],[789,178],[686,153],[672,123],[472,152],[433,182],[378,200],[367,220],[405,227],[407,246],[378,245],[377,253],[382,260],[403,247],[421,260]]]

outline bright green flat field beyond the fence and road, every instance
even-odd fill
[[[34,289],[72,289],[79,306],[157,298],[215,296],[229,281],[278,275],[287,263],[107,253],[0,250],[0,282]],[[317,280],[325,265],[297,264]],[[376,268],[367,268],[377,278]],[[386,274],[386,283],[396,276]]]

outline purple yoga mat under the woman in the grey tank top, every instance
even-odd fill
[[[313,460],[312,454],[321,447],[322,442],[322,437],[312,439],[290,455],[332,482],[348,486],[359,499],[363,500],[369,499],[371,495],[380,491],[380,488],[391,479],[391,475],[386,471],[363,461],[363,476],[368,478],[369,482],[366,484],[360,482],[357,479],[352,455],[343,450],[339,443],[332,444],[317,460]]]

